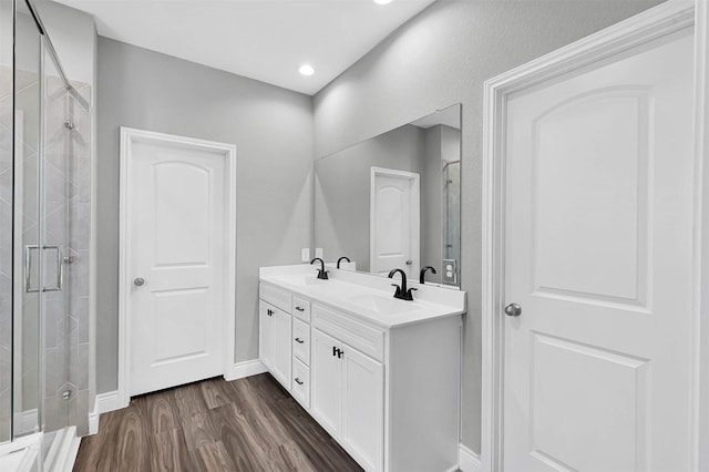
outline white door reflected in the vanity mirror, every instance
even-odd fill
[[[404,269],[419,273],[419,174],[372,167],[370,201],[370,268],[374,274]]]

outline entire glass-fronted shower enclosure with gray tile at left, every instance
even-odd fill
[[[0,443],[38,434],[51,466],[89,429],[91,89],[32,2],[0,21]]]

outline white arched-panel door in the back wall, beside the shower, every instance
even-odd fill
[[[133,396],[223,373],[233,287],[225,153],[153,138],[129,160]]]

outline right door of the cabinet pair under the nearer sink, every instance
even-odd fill
[[[368,471],[383,468],[384,369],[380,362],[347,348],[342,359],[340,440]]]

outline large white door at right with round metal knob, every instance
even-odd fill
[[[507,471],[690,469],[692,54],[687,31],[507,102]]]

